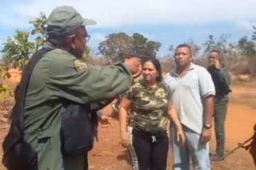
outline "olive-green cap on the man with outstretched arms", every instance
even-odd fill
[[[82,25],[95,25],[91,19],[84,19],[75,8],[71,6],[60,6],[55,8],[44,23],[48,34],[60,36],[79,28]]]

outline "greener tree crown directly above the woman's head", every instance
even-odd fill
[[[132,34],[134,53],[156,57],[156,53],[161,47],[161,43],[149,41],[145,36],[139,33]]]

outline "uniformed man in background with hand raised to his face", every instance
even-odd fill
[[[214,101],[214,129],[217,141],[215,154],[210,156],[210,160],[218,161],[224,159],[225,148],[225,120],[228,108],[228,94],[230,90],[230,74],[227,67],[221,65],[221,53],[212,50],[209,55],[208,72],[212,76],[216,96]]]

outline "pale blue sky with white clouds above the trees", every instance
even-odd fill
[[[57,6],[73,6],[97,25],[87,29],[89,46],[96,50],[107,34],[139,32],[162,43],[159,56],[169,45],[188,39],[205,42],[209,34],[231,33],[230,41],[251,36],[256,25],[255,0],[9,0],[0,2],[0,49],[15,30],[31,30],[28,21],[39,12],[50,14]]]

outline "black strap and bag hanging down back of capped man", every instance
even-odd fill
[[[24,104],[30,76],[37,62],[46,52],[52,49],[39,50],[33,54],[21,75],[21,81],[15,89],[15,106],[12,109],[10,130],[3,140],[3,165],[10,170],[35,170],[37,152],[24,140]]]

